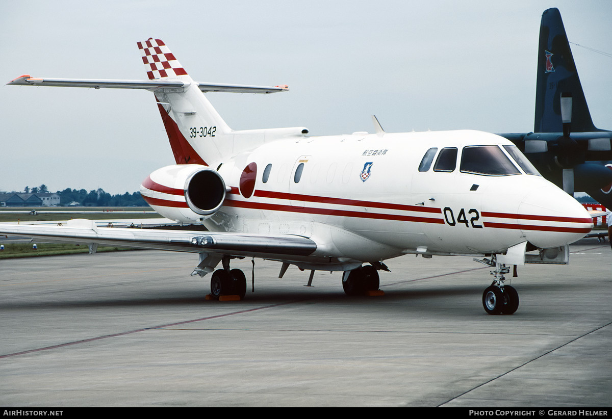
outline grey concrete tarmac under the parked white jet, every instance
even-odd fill
[[[233,261],[240,302],[204,300],[193,254],[0,261],[0,406],[612,406],[612,252],[526,265],[520,306],[489,316],[488,267],[403,258],[384,296],[340,273]]]

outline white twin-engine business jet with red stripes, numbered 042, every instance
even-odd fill
[[[346,294],[379,287],[378,270],[405,254],[474,256],[490,265],[490,314],[512,314],[512,265],[567,263],[568,244],[593,226],[589,213],[543,179],[510,141],[461,130],[308,136],[304,127],[232,130],[203,92],[272,93],[286,86],[196,83],[159,39],[138,43],[149,80],[21,76],[8,84],[145,89],[154,92],[176,165],[141,185],[153,209],[208,231],[7,226],[0,232],[65,242],[186,251],[192,275],[212,273],[211,294],[244,297],[233,258],[341,271]],[[531,253],[528,253],[531,252]],[[222,268],[216,269],[221,262]],[[216,269],[216,270],[215,270]]]

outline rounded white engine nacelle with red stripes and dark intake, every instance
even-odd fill
[[[225,182],[203,165],[172,165],[152,172],[140,194],[152,209],[177,223],[201,223],[222,206]]]

